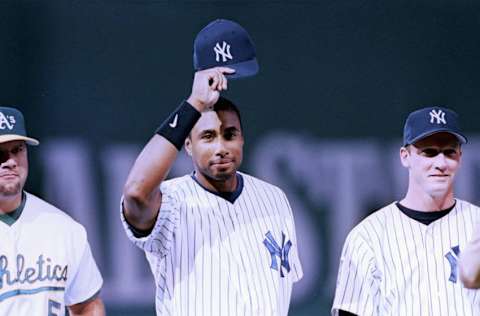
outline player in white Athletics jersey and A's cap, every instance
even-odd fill
[[[85,229],[23,190],[28,176],[22,113],[0,107],[0,315],[104,315],[102,277]]]

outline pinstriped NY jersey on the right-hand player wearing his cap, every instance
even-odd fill
[[[457,268],[479,219],[458,199],[430,225],[395,203],[368,216],[345,241],[332,315],[480,315],[480,292],[463,287]]]

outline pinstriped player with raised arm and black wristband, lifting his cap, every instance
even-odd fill
[[[237,56],[235,43],[223,43]],[[125,184],[121,217],[155,277],[157,315],[287,315],[302,277],[285,194],[238,171],[240,113],[220,93],[227,76],[245,74],[242,65],[195,73],[190,97],[150,139]],[[183,144],[194,172],[164,181]]]

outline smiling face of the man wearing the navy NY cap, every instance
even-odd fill
[[[462,152],[458,139],[450,133],[436,133],[400,151],[409,169],[410,185],[432,197],[443,197],[453,190]]]

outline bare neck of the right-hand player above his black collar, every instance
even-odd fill
[[[415,192],[410,188],[405,198],[400,201],[403,206],[421,212],[442,211],[451,207],[454,203],[453,190],[443,195],[432,196],[424,191]]]

